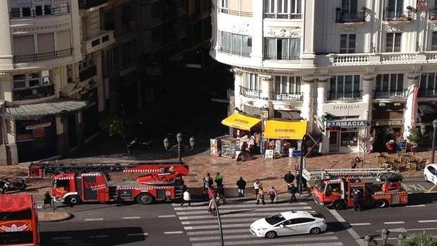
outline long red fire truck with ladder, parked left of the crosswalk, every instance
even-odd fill
[[[30,175],[52,176],[52,194],[55,201],[76,205],[82,202],[136,201],[151,204],[154,201],[170,201],[181,198],[184,189],[183,176],[188,175],[188,165],[157,161],[102,164],[68,165],[40,163],[30,168]],[[143,173],[133,179],[113,182],[110,172]]]

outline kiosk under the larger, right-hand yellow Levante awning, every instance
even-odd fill
[[[292,156],[290,151],[300,150],[308,122],[270,119],[265,123],[265,149],[274,150],[280,156]]]

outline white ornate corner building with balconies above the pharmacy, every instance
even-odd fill
[[[437,6],[416,0],[214,0],[230,109],[305,120],[323,153],[387,151],[437,118]]]

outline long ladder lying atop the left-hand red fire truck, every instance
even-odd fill
[[[64,163],[32,163],[29,167],[29,176],[35,177],[42,176],[47,177],[50,175],[57,175],[61,172],[153,172],[155,170],[148,170],[144,168],[147,165],[184,165],[188,168],[185,163],[179,162],[162,162],[155,160],[148,160],[138,163],[74,163],[74,164],[64,164]],[[143,167],[140,168],[139,167]],[[136,169],[138,168],[138,169]]]

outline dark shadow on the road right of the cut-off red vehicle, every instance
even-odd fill
[[[58,230],[42,232],[41,245],[123,245],[147,239],[140,227],[102,228],[92,230]],[[144,245],[147,245],[145,242]]]

